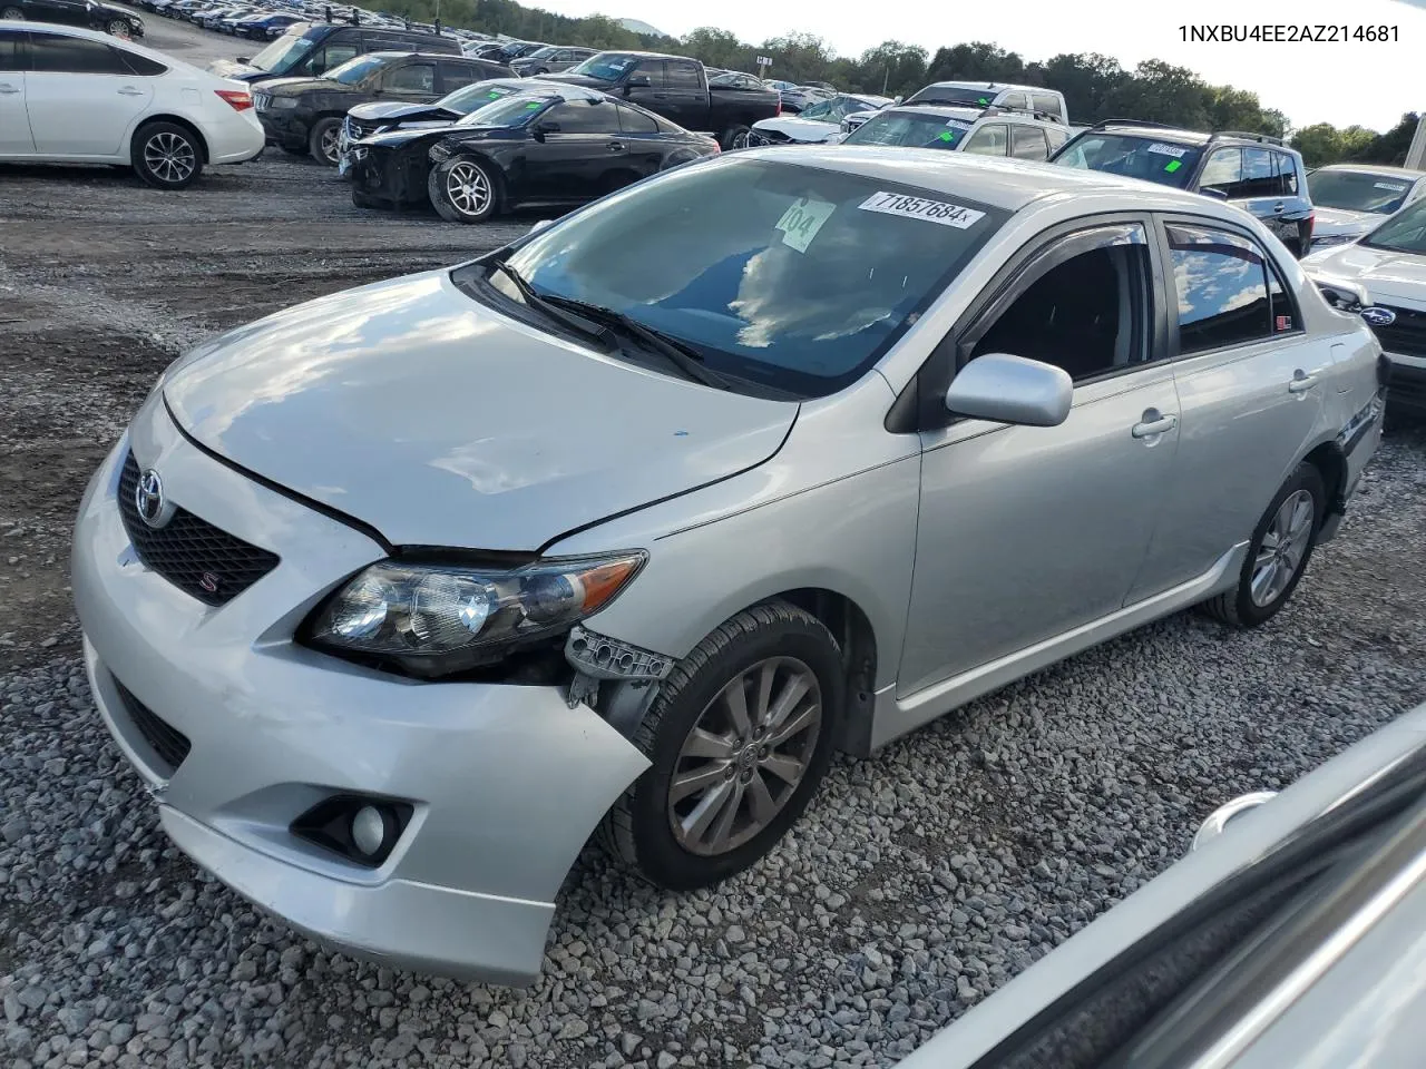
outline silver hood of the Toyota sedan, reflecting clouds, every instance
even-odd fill
[[[445,271],[230,331],[163,391],[208,449],[394,544],[488,550],[760,465],[797,416],[508,319]]]

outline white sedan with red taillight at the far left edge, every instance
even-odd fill
[[[93,30],[0,23],[6,162],[123,164],[181,190],[205,164],[251,160],[262,144],[240,83]]]

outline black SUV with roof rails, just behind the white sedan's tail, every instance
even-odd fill
[[[6,3],[6,0],[0,0]],[[461,56],[461,41],[419,30],[338,23],[294,23],[252,58],[217,60],[208,73],[220,78],[261,83],[274,78],[317,77],[348,60],[374,51],[421,51]]]

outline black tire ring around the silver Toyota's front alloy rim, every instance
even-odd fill
[[[823,721],[811,761],[781,812],[737,849],[716,857],[690,854],[679,845],[669,827],[667,795],[684,738],[723,686],[749,666],[767,657],[796,657],[817,676],[821,687]],[[747,868],[786,834],[817,792],[831,760],[833,738],[844,703],[843,666],[826,629],[801,619],[777,620],[742,636],[704,664],[662,710],[657,734],[649,754],[653,767],[635,784],[629,814],[639,868],[646,877],[673,891],[716,884]]]

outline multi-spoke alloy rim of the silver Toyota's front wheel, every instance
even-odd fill
[[[683,740],[669,824],[690,854],[726,854],[771,824],[801,783],[821,733],[821,687],[796,657],[734,676]]]

